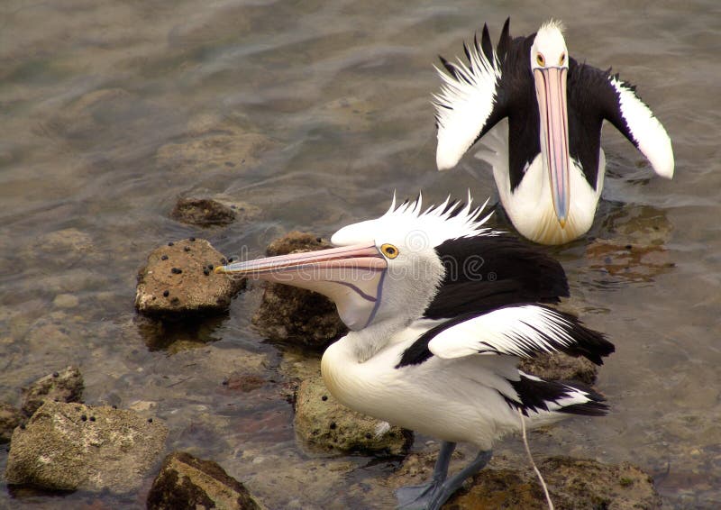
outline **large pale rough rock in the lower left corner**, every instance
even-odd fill
[[[47,401],[15,429],[10,485],[129,492],[163,449],[168,428],[132,411]]]

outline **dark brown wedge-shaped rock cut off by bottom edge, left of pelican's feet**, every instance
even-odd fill
[[[163,461],[148,494],[149,510],[260,510],[242,483],[212,460],[176,451]]]

